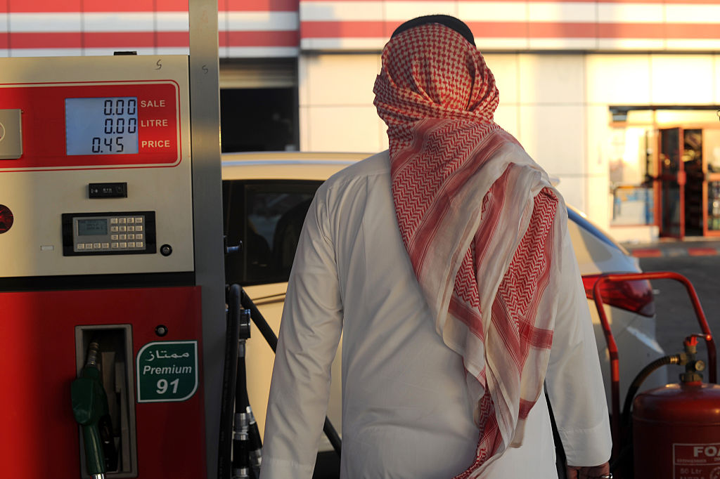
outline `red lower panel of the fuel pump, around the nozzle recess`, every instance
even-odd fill
[[[81,442],[71,403],[78,374],[76,327],[101,332],[127,327],[131,357],[125,364],[133,377],[138,377],[136,359],[148,345],[171,355],[177,351],[173,345],[193,343],[202,370],[198,286],[0,292],[0,310],[5,359],[0,384],[6,392],[0,395],[0,478],[81,478]],[[130,448],[137,451],[137,473],[121,477],[206,476],[202,375],[197,380],[197,388],[176,401],[138,401],[142,384],[127,386],[135,411],[130,437],[136,442]],[[168,393],[172,387],[168,382]]]

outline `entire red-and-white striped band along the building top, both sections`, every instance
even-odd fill
[[[220,56],[382,48],[395,27],[446,13],[481,50],[718,51],[711,0],[219,0]],[[186,0],[0,0],[0,56],[187,53]]]

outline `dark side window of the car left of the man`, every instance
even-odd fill
[[[228,245],[240,252],[225,258],[228,284],[287,281],[300,229],[320,181],[222,182],[223,227]]]

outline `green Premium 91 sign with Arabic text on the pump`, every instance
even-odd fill
[[[149,342],[136,371],[138,403],[185,401],[197,391],[197,341]]]

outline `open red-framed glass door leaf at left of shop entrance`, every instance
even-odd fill
[[[685,236],[683,129],[660,129],[657,181],[660,183],[660,236]]]

